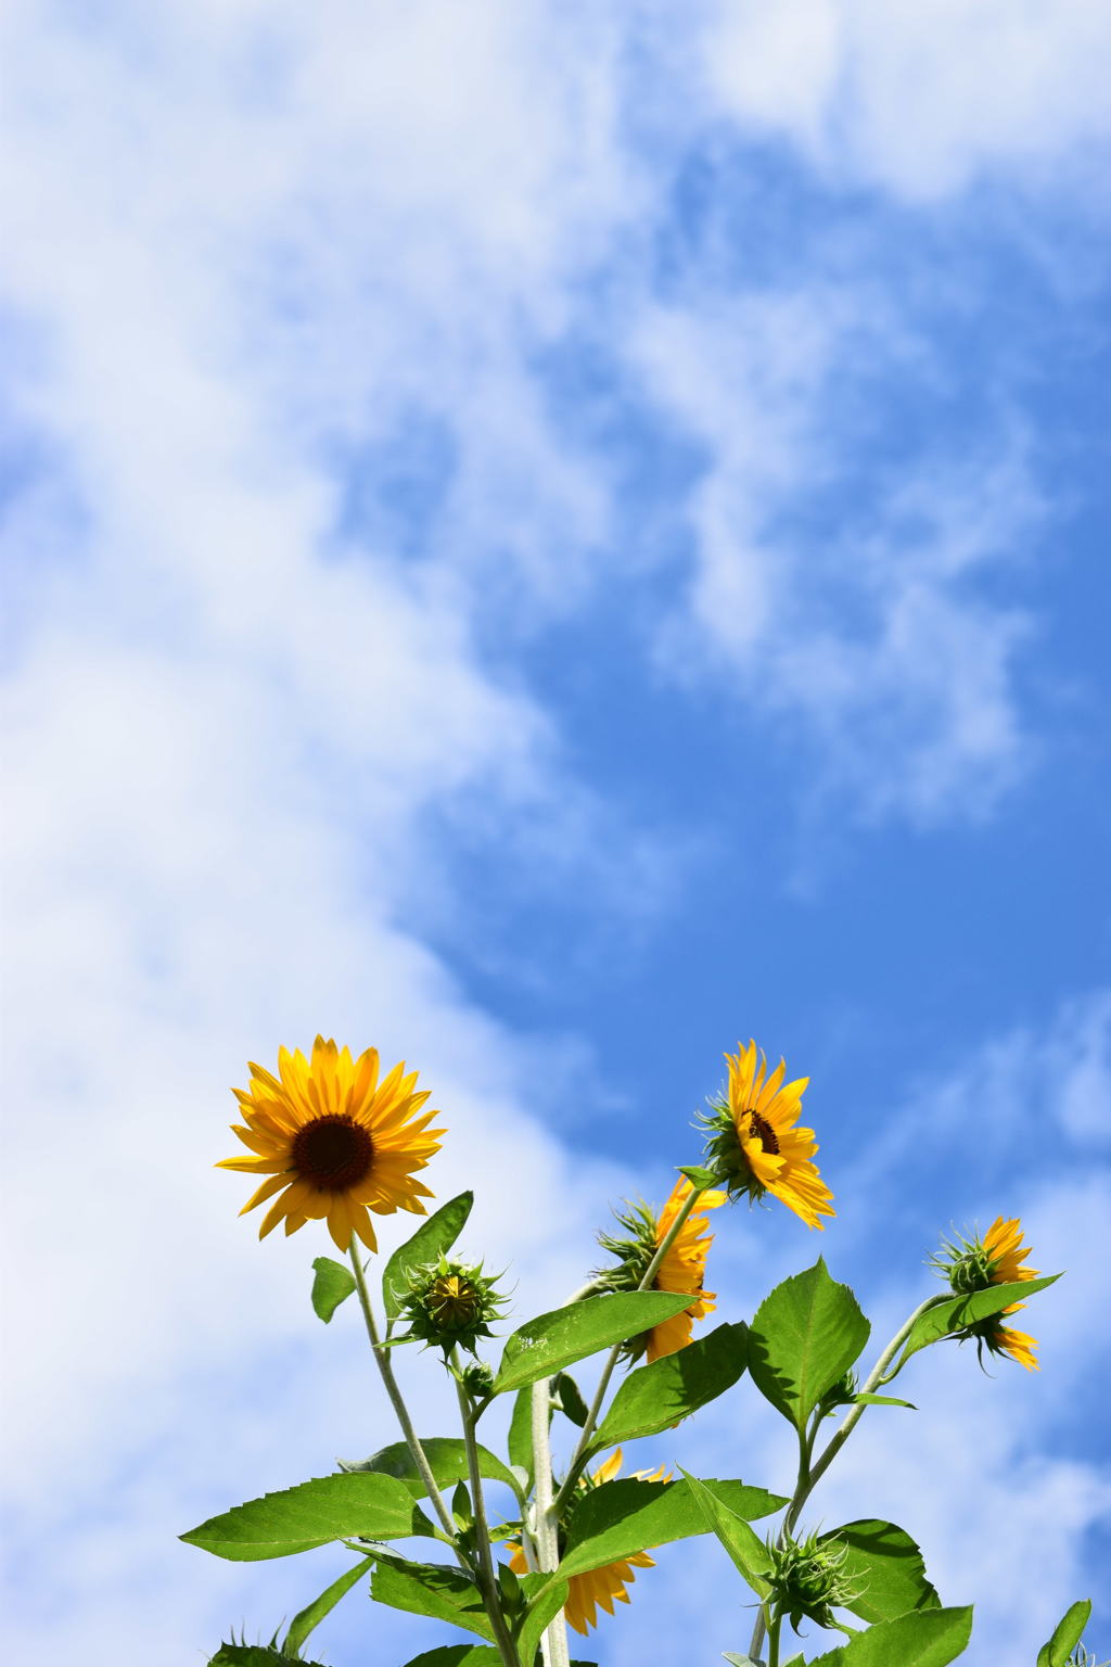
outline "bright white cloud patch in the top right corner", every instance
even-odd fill
[[[710,17],[721,108],[911,200],[991,172],[1038,178],[1111,138],[1099,0],[740,0]]]

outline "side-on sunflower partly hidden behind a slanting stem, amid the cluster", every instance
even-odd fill
[[[625,1237],[598,1234],[598,1244],[603,1250],[610,1250],[620,1259],[618,1267],[605,1269],[598,1274],[598,1284],[603,1289],[640,1289],[656,1250],[666,1239],[675,1217],[691,1192],[693,1187],[686,1175],[680,1175],[671,1189],[671,1197],[658,1214],[646,1204],[633,1204],[628,1210],[618,1212],[618,1222],[626,1230]],[[713,1234],[706,1230],[708,1217],[703,1212],[716,1210],[721,1204],[725,1204],[725,1192],[703,1192],[696,1207],[668,1245],[666,1255],[651,1280],[653,1290],[673,1290],[680,1295],[690,1294],[695,1300],[690,1309],[673,1314],[670,1320],[653,1325],[651,1330],[633,1339],[625,1350],[631,1359],[646,1355],[651,1362],[660,1360],[661,1355],[686,1349],[695,1330],[695,1320],[713,1314],[716,1305],[715,1292],[703,1290],[706,1255],[713,1244]]]

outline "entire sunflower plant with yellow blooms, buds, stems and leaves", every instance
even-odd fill
[[[740,1577],[738,1630],[743,1605],[753,1615],[746,1647],[740,1639],[726,1655],[733,1667],[800,1667],[800,1644],[811,1649],[820,1634],[815,1667],[944,1667],[964,1652],[971,1607],[943,1605],[909,1532],[873,1517],[823,1527],[810,1517],[811,1495],[868,1409],[909,1407],[888,1389],[919,1350],[974,1342],[981,1359],[1036,1370],[1036,1340],[1003,1322],[1058,1275],[1029,1265],[1016,1217],[998,1217],[983,1237],[941,1244],[933,1265],[944,1289],[924,1295],[868,1367],[871,1327],[821,1257],[776,1285],[746,1324],[696,1334],[716,1300],[705,1289],[710,1212],[778,1200],[808,1230],[834,1214],[815,1132],[801,1124],[808,1080],[788,1082],[783,1062],[770,1072],[755,1042],[726,1054],[726,1090],[700,1119],[701,1162],[680,1167],[661,1207],[618,1209],[616,1230],[598,1235],[610,1260],[561,1307],[516,1325],[496,1359],[485,1354],[506,1324],[508,1297],[501,1275],[455,1254],[473,1195],[428,1214],[433,1194],[418,1175],[445,1130],[423,1109],[430,1095],[416,1074],[400,1064],[383,1075],[375,1049],[353,1057],[323,1037],[308,1057],[281,1049],[277,1074],[250,1067],[250,1087],[235,1090],[243,1122],[233,1125],[250,1155],[220,1167],[258,1177],[243,1210],[267,1205],[260,1237],[278,1224],[286,1234],[326,1225],[346,1262],[313,1260],[311,1305],[331,1322],[356,1299],[396,1432],[363,1462],[182,1535],[230,1560],[328,1544],[350,1555],[281,1635],[232,1637],[210,1667],[311,1667],[311,1632],[360,1587],[466,1635],[408,1667],[570,1667],[568,1627],[586,1637],[610,1625],[603,1615],[630,1602],[635,1579],[653,1567],[650,1552],[695,1535],[715,1535]],[[380,1267],[371,1217],[396,1210],[423,1220]],[[726,1217],[713,1222],[723,1230]],[[395,1372],[405,1344],[448,1374],[456,1432],[416,1430]],[[590,1397],[570,1370],[586,1362]],[[733,1394],[761,1397],[790,1424],[798,1469],[785,1492],[665,1465],[621,1475],[631,1442],[666,1439]],[[506,1430],[501,1444],[491,1429]],[[568,1450],[560,1465],[556,1434]],[[495,1500],[505,1509],[495,1512]],[[1036,1667],[1091,1662],[1081,1644],[1089,1610],[1069,1609]]]

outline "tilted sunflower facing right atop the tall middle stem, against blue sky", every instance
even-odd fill
[[[800,1129],[803,1090],[810,1077],[783,1082],[786,1065],[768,1075],[768,1062],[750,1042],[725,1055],[730,1097],[711,1104],[701,1122],[708,1130],[706,1160],[728,1184],[730,1197],[775,1194],[808,1227],[825,1227],[833,1215],[833,1194],[813,1162],[818,1142],[813,1129]]]

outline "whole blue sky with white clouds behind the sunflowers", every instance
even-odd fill
[[[879,1337],[1021,1214],[1041,1374],[923,1360],[821,1510],[1033,1662],[1111,1545],[1106,8],[3,30],[12,1654],[177,1667],[328,1579],[175,1542],[390,1439],[325,1247],[208,1169],[321,1029],[420,1067],[521,1314],[750,1035],[839,1215],[730,1212],[728,1317],[821,1249]],[[731,1405],[658,1459],[790,1464]],[[723,1575],[661,1554],[598,1660],[683,1659],[691,1582],[738,1649]]]

